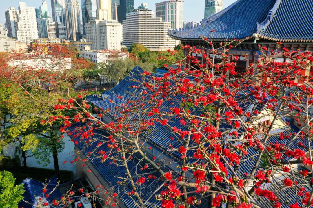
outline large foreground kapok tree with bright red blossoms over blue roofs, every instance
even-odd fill
[[[313,88],[297,80],[308,80],[312,52],[260,46],[262,59],[239,73],[230,49],[244,40],[203,41],[211,47],[184,46],[188,55],[162,76],[132,71],[126,93],[103,95],[108,108],[79,95],[62,127],[83,156],[72,162],[123,168],[117,184],[81,194],[111,206],[129,197],[137,207],[310,207]]]

